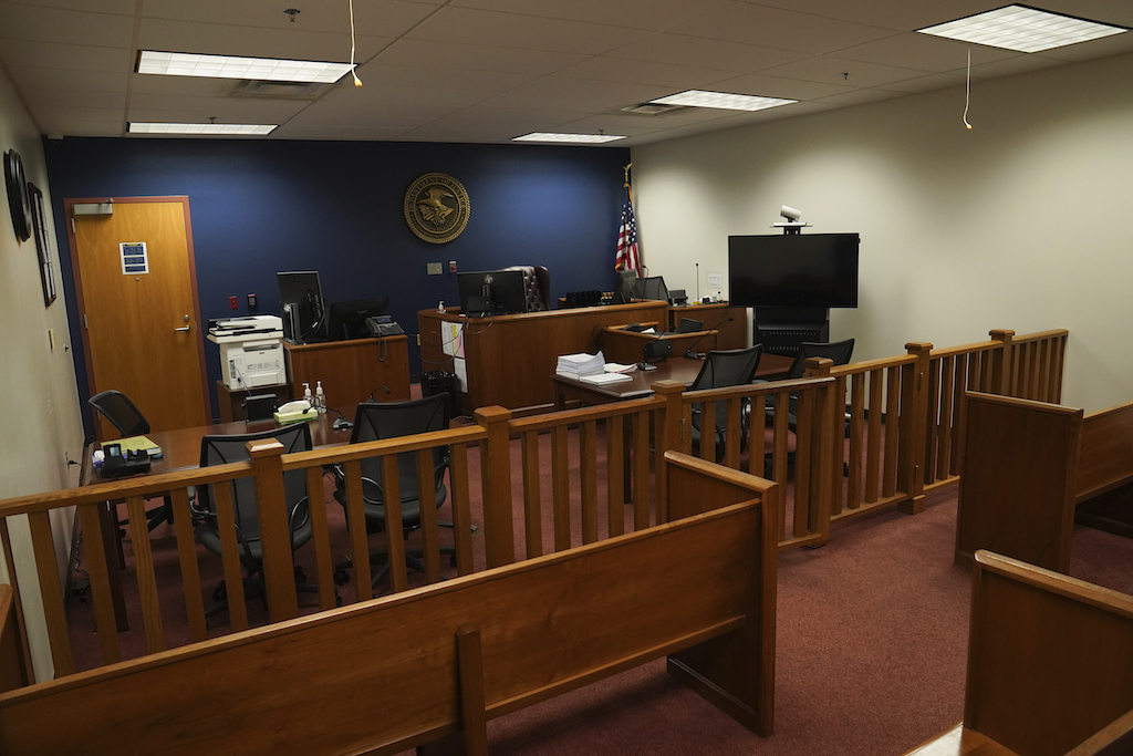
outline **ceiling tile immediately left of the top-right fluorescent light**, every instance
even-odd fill
[[[893,34],[876,26],[746,3],[670,31],[809,53],[833,52]]]

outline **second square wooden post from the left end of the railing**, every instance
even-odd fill
[[[480,485],[484,493],[484,541],[488,568],[516,561],[516,532],[511,516],[511,450],[508,422],[511,410],[480,407],[476,422],[488,432],[480,453]]]

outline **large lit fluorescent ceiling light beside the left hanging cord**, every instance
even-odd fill
[[[162,74],[164,76],[207,76],[211,78],[333,84],[350,73],[350,63],[198,56],[188,52],[143,50],[138,57],[137,70],[138,74]]]

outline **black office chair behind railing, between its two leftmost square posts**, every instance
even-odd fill
[[[358,405],[350,443],[394,439],[415,433],[427,433],[429,431],[444,431],[449,427],[449,418],[448,393],[438,393],[412,401],[364,401]],[[449,448],[435,447],[433,449],[434,489],[432,492],[421,492],[417,482],[417,452],[407,451],[398,455],[398,492],[401,499],[402,538],[408,538],[409,533],[421,526],[420,508],[423,495],[427,502],[426,506],[431,504],[440,509],[444,504],[444,500],[449,495],[444,486],[444,472],[448,467]],[[385,492],[382,487],[382,459],[378,457],[363,459],[361,475],[363,511],[366,515],[367,526],[376,529],[385,529]],[[335,470],[335,478],[338,487],[334,492],[334,499],[346,507],[346,479],[341,469]],[[393,537],[393,534],[390,534],[390,537]],[[441,553],[451,554],[454,560],[457,550],[444,547],[441,549]],[[370,550],[369,558],[372,564],[381,566],[381,569],[372,576],[370,588],[373,589],[380,580],[389,575],[390,563],[389,554],[382,549]],[[423,553],[419,549],[406,551],[406,564],[418,572],[425,571],[421,558]],[[351,566],[352,563],[349,560],[335,566],[335,569],[339,571],[338,581],[340,584],[348,579],[344,570]]]

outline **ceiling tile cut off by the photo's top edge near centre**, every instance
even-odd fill
[[[733,0],[453,0],[453,6],[565,20],[666,29],[727,8]]]

